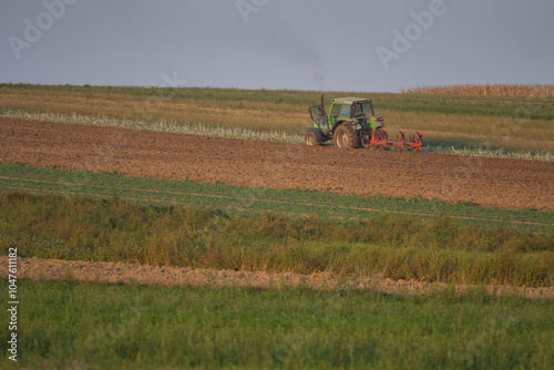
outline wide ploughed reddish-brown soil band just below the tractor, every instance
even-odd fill
[[[0,119],[0,163],[554,210],[554,163]]]

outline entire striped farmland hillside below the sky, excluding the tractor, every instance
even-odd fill
[[[424,131],[404,153],[301,144],[319,92],[0,84],[0,367],[552,369],[535,88],[326,92]]]

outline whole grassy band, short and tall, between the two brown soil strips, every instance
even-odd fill
[[[22,257],[554,285],[552,213],[0,168],[2,191],[55,194],[2,195],[4,255],[18,246]]]

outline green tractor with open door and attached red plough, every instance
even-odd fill
[[[417,131],[413,142],[406,142],[403,131],[399,132],[398,142],[389,141],[382,117],[376,116],[370,99],[339,97],[331,101],[331,109],[327,115],[321,103],[309,107],[314,125],[306,127],[305,142],[307,145],[321,145],[332,141],[335,146],[341,148],[376,147],[387,150],[399,147],[401,150],[417,148],[421,152],[423,133]]]

